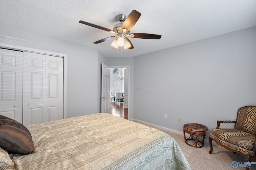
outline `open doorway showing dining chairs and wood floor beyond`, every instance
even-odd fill
[[[128,119],[129,68],[122,66],[110,67],[109,89],[109,113],[124,119]],[[121,100],[120,97],[119,99],[116,98],[115,92],[122,94]]]

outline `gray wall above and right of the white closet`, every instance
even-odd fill
[[[105,57],[84,47],[0,26],[0,44],[67,55],[67,117],[99,112],[99,66]]]

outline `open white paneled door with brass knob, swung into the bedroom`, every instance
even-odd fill
[[[109,74],[110,68],[102,63],[101,66],[101,113],[108,113],[109,111]]]

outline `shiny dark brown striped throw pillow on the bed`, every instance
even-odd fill
[[[34,153],[34,143],[28,129],[13,119],[0,115],[0,147],[17,154]]]

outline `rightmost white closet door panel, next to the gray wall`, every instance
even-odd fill
[[[46,55],[45,121],[63,119],[63,58]]]

